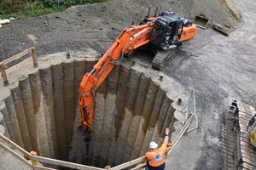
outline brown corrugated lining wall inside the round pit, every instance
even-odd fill
[[[38,68],[28,65],[14,73],[17,81],[9,77],[11,85],[1,89],[7,92],[0,95],[1,125],[7,129],[4,134],[27,151],[82,163],[85,144],[76,130],[79,82],[96,59],[55,55],[39,61]],[[141,69],[116,65],[98,88],[90,165],[114,166],[143,156],[151,140],[162,143],[163,129],[173,131],[173,100],[159,79]]]

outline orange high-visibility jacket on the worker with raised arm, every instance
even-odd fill
[[[166,136],[164,143],[157,150],[150,150],[146,153],[148,163],[152,167],[158,167],[165,163],[165,153],[169,136]]]

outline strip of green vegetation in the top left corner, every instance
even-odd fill
[[[1,0],[0,18],[30,17],[62,11],[72,5],[85,3],[102,3],[108,0]],[[27,6],[28,5],[28,6]]]

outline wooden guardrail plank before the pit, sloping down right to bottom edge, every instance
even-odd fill
[[[73,163],[73,162],[68,162],[68,161],[60,161],[60,160],[55,160],[47,157],[42,157],[42,156],[32,156],[33,161],[39,161],[39,162],[44,162],[44,163],[49,163],[61,167],[70,167],[74,169],[84,169],[84,170],[104,170],[103,168],[100,167],[90,167],[90,166],[85,166],[81,165],[78,163]]]

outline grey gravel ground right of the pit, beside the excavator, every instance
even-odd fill
[[[256,3],[235,3],[244,17],[241,28],[230,37],[210,28],[198,29],[195,41],[184,43],[164,71],[195,90],[199,116],[199,128],[181,139],[166,169],[225,169],[221,142],[224,112],[233,100],[256,108]]]

